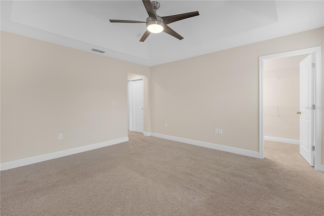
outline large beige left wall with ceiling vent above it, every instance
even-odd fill
[[[4,31],[1,54],[1,163],[128,136],[128,73],[149,67]]]

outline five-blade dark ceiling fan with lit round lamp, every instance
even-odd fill
[[[155,1],[150,2],[149,0],[142,0],[142,2],[144,4],[144,7],[145,7],[145,9],[148,13],[148,16],[149,16],[146,19],[146,22],[135,21],[135,20],[110,19],[110,22],[146,23],[147,30],[143,34],[140,42],[144,42],[150,33],[159,33],[161,31],[164,31],[164,32],[172,35],[173,37],[175,37],[179,40],[182,40],[183,37],[181,37],[180,34],[178,34],[174,30],[172,30],[169,26],[167,26],[167,24],[199,15],[198,11],[195,11],[195,12],[190,12],[190,13],[160,17],[156,14],[156,10],[159,9],[160,3],[155,2]]]

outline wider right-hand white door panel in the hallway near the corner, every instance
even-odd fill
[[[143,133],[143,80],[133,81],[133,130]]]

